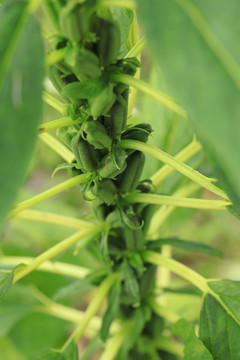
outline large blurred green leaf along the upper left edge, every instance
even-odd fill
[[[11,48],[13,60],[6,55],[24,11],[20,4],[11,1],[0,8],[0,72],[5,56],[9,61],[0,85],[0,225],[23,183],[42,111],[44,52],[40,28],[33,18],[24,27],[15,51]]]

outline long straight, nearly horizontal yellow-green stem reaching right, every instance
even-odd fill
[[[207,200],[207,199],[193,199],[182,198],[176,196],[166,196],[157,194],[140,194],[130,193],[125,196],[125,200],[129,203],[144,203],[156,205],[170,205],[177,207],[186,207],[191,209],[212,209],[224,210],[230,202],[225,200]]]

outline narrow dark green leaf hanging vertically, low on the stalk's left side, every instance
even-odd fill
[[[115,317],[117,316],[120,305],[120,294],[121,294],[121,285],[119,282],[116,282],[110,291],[108,298],[108,307],[102,320],[100,336],[103,341],[107,340],[110,326],[113,320],[115,319]]]

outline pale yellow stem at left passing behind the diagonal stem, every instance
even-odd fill
[[[34,261],[33,257],[29,256],[2,256],[1,265],[15,267],[20,264],[29,265]],[[45,261],[36,270],[59,274],[64,276],[71,276],[76,279],[82,279],[90,273],[89,269],[78,265],[67,264],[59,261]]]

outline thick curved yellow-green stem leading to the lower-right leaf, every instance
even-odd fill
[[[144,251],[143,260],[151,264],[160,265],[168,268],[173,273],[181,276],[183,279],[189,281],[194,286],[199,288],[203,293],[208,292],[207,279],[199,275],[194,270],[189,267],[181,264],[180,262],[165,258],[164,256],[154,252],[154,251]]]

